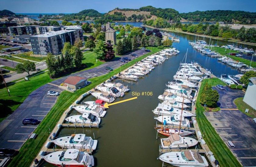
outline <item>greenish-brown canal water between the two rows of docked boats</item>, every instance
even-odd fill
[[[211,69],[214,75],[239,74],[235,68],[224,65],[216,58],[207,57],[194,50],[188,44],[193,40],[192,35],[180,34],[180,43],[173,43],[180,54],[169,57],[162,65],[158,65],[154,70],[138,82],[126,82],[123,84],[131,89],[123,98],[116,99],[115,102],[129,99],[132,92],[140,92],[137,99],[109,106],[107,114],[101,120],[100,128],[63,128],[59,135],[74,133],[84,133],[87,136],[98,140],[97,150],[93,153],[95,166],[162,166],[162,162],[157,160],[159,156],[160,138],[165,136],[158,134],[154,129],[156,120],[154,110],[158,103],[158,96],[162,95],[165,84],[172,81],[179,68],[180,62],[188,48],[187,62],[195,61],[202,66]],[[122,81],[120,81],[122,82]],[[142,92],[152,92],[152,95],[141,95]],[[84,101],[96,100],[92,95]],[[64,111],[63,111],[64,112]],[[73,112],[73,113],[76,113]],[[44,162],[42,166],[52,165]]]

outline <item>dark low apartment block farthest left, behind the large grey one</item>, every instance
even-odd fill
[[[8,27],[9,33],[14,35],[36,34],[36,25]]]

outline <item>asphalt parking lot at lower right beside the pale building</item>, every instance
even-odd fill
[[[246,114],[240,112],[234,104],[234,99],[244,97],[245,92],[224,87],[219,92],[219,112],[204,112],[207,119],[227,145],[231,141],[235,147],[227,147],[236,155],[243,166],[256,166],[256,124]],[[205,132],[207,133],[207,132]]]

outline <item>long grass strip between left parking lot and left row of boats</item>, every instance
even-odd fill
[[[54,107],[51,109],[48,115],[44,118],[44,120],[40,123],[40,125],[38,125],[37,129],[35,130],[34,133],[36,133],[38,137],[35,140],[27,140],[27,142],[25,142],[25,144],[19,150],[20,153],[13,158],[13,160],[8,166],[22,167],[22,166],[30,165],[34,161],[34,158],[37,156],[38,152],[41,150],[41,147],[43,146],[44,142],[48,139],[48,136],[49,136],[48,129],[50,128],[52,130],[56,126],[56,123],[59,121],[60,116],[75,101],[75,99],[77,99],[81,94],[91,90],[96,85],[104,82],[111,76],[119,73],[120,71],[123,71],[124,69],[140,61],[144,57],[162,50],[162,49],[157,49],[152,47],[150,47],[150,49],[152,52],[147,53],[135,60],[132,60],[129,63],[115,69],[114,71],[107,73],[106,75],[89,79],[89,81],[91,81],[92,84],[88,85],[83,89],[79,89],[74,93],[63,91],[59,95],[59,98],[56,104],[54,105]],[[93,58],[94,57],[93,54],[91,55],[87,54],[87,55],[89,55],[89,58],[86,57],[87,60],[95,61],[95,59]],[[31,152],[31,148],[33,148],[33,152]]]

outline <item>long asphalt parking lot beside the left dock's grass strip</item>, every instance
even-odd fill
[[[144,50],[137,50],[133,53],[141,56],[147,52]],[[124,55],[122,58],[132,58],[130,54]],[[123,63],[119,62],[120,59],[121,58],[117,58],[115,61],[107,62],[105,64],[99,65],[96,68],[77,72],[69,76],[91,76],[91,78],[93,78],[93,75],[104,75],[108,73],[108,71],[105,70],[106,66],[110,66],[116,69],[123,65]],[[51,83],[60,85],[69,76],[54,80]],[[7,79],[8,78],[6,78],[6,80]],[[54,90],[59,93],[62,92],[62,89],[52,84],[45,84],[37,90],[33,91],[9,117],[0,123],[0,148],[19,150],[24,142],[26,142],[26,140],[34,132],[38,125],[23,125],[22,120],[25,118],[43,120],[47,113],[50,112],[58,97],[49,97],[47,96],[47,92],[50,90]]]

